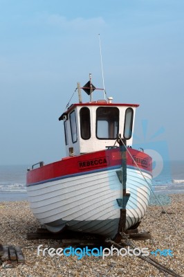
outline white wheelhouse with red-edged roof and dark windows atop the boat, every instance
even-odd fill
[[[132,145],[136,104],[113,104],[111,100],[71,105],[64,121],[66,155],[73,156],[113,146],[121,134]]]

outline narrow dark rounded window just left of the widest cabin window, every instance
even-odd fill
[[[87,107],[80,109],[80,134],[82,139],[91,137],[90,111]]]

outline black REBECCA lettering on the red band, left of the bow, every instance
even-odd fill
[[[98,168],[100,166],[108,166],[109,165],[109,157],[100,157],[96,159],[80,161],[78,163],[80,170],[87,168]]]

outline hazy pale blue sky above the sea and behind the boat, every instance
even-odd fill
[[[0,165],[65,156],[58,118],[77,82],[92,73],[103,86],[99,33],[107,95],[140,104],[135,145],[184,159],[183,0],[0,0],[0,7]]]

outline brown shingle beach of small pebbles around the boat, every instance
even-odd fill
[[[165,210],[174,222],[175,228],[184,238],[184,194],[169,195],[171,204],[165,203]],[[168,200],[168,199],[167,199]],[[171,249],[173,256],[156,256],[163,265],[184,276],[183,240],[167,219],[162,209],[154,203],[149,206],[142,220],[139,231],[150,231],[151,240],[134,241],[137,247],[147,247],[149,251],[156,249]],[[85,256],[78,260],[77,256],[37,256],[37,247],[62,247],[59,240],[26,240],[26,233],[35,232],[40,227],[30,211],[28,202],[1,202],[0,203],[0,243],[13,244],[22,247],[25,265],[12,266],[8,263],[0,265],[1,277],[57,277],[57,276],[136,276],[153,277],[167,276],[158,269],[147,264],[136,256]],[[151,255],[154,258],[154,256]]]

